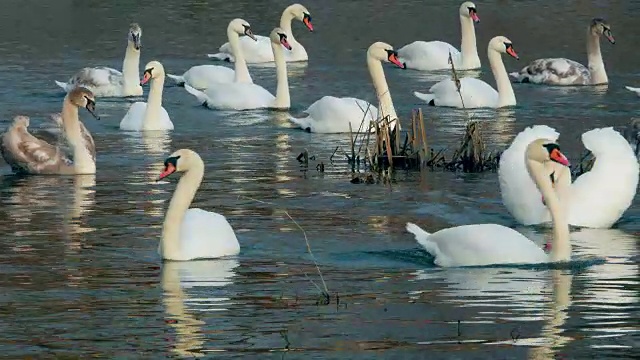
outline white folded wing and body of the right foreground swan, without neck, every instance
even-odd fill
[[[417,227],[417,226],[416,226]],[[407,226],[409,230],[409,225]],[[421,230],[421,229],[420,229]],[[442,267],[548,262],[544,251],[519,232],[498,224],[463,225],[420,236],[427,251],[435,249],[435,264]]]

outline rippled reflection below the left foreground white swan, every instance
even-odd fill
[[[165,261],[162,264],[166,323],[174,329],[172,351],[183,357],[203,357],[205,322],[195,312],[226,311],[232,305],[225,286],[233,283],[236,259]]]

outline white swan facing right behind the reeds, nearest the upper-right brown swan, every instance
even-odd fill
[[[509,75],[504,68],[501,53],[509,54],[518,60],[518,54],[513,49],[511,40],[504,36],[496,36],[489,41],[487,55],[489,64],[491,64],[491,72],[496,79],[498,91],[494,90],[491,85],[486,82],[465,77],[460,79],[460,91],[464,104],[460,100],[460,94],[456,90],[456,85],[451,79],[442,80],[429,89],[429,94],[413,92],[418,99],[426,101],[432,106],[450,106],[458,108],[500,108],[504,106],[514,106],[516,104],[516,95],[513,93],[513,87],[509,82]]]

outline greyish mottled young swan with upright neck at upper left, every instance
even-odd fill
[[[76,86],[85,87],[97,97],[126,97],[142,95],[140,86],[140,47],[142,29],[133,23],[129,28],[127,50],[124,54],[122,72],[105,66],[83,68],[67,83],[56,81],[64,91],[69,92]]]

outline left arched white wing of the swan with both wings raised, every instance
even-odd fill
[[[502,203],[521,224],[533,225],[551,220],[542,203],[542,195],[525,164],[527,146],[537,139],[556,141],[560,134],[546,125],[535,125],[521,131],[500,155],[498,179]]]

